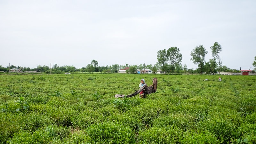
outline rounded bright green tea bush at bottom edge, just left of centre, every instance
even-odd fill
[[[135,143],[135,134],[130,127],[118,122],[92,124],[86,129],[90,143]]]

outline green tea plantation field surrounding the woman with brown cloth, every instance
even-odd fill
[[[154,77],[147,98],[114,97]],[[218,78],[0,75],[0,143],[256,143],[256,76]]]

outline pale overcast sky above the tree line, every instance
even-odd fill
[[[157,51],[222,46],[231,69],[252,69],[255,0],[0,0],[0,65],[156,64]]]

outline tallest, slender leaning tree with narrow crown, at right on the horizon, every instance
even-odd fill
[[[218,42],[215,42],[212,46],[211,46],[211,50],[212,50],[212,57],[217,60],[217,67],[219,69],[219,73],[220,73],[220,68],[222,66],[222,62],[220,60],[220,52],[222,51],[221,45]]]

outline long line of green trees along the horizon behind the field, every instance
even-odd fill
[[[113,64],[113,65],[107,65],[100,67],[98,64],[99,62],[97,60],[92,60],[90,64],[87,64],[86,67],[82,68],[76,68],[75,66],[58,66],[58,64],[54,64],[52,69],[49,68],[49,66],[41,66],[38,65],[36,68],[27,68],[27,67],[16,67],[14,65],[12,66],[6,66],[5,68],[0,65],[0,71],[9,71],[9,69],[15,68],[19,71],[36,71],[36,72],[46,72],[50,73],[50,71],[53,71],[55,73],[62,73],[62,72],[106,72],[106,73],[118,73],[119,69],[124,69],[126,67],[129,67],[127,72],[134,73],[137,69],[142,70],[144,68],[148,68],[153,71],[153,73],[156,73],[157,70],[162,70],[164,73],[202,73],[210,74],[210,73],[216,73],[218,72],[240,72],[237,69],[230,69],[225,65],[222,65],[222,61],[220,59],[220,52],[222,51],[222,47],[218,42],[215,42],[211,47],[212,52],[212,59],[209,61],[205,60],[206,54],[208,52],[205,50],[203,45],[196,46],[191,52],[191,61],[194,64],[198,65],[198,68],[194,69],[188,69],[187,65],[181,64],[182,61],[182,54],[180,53],[179,48],[177,47],[171,47],[169,49],[159,50],[157,52],[157,63],[152,65],[119,65],[119,64]],[[252,63],[254,67],[256,67],[256,56],[254,58],[254,61]],[[255,68],[256,69],[256,68]],[[255,69],[253,71],[255,71]]]

